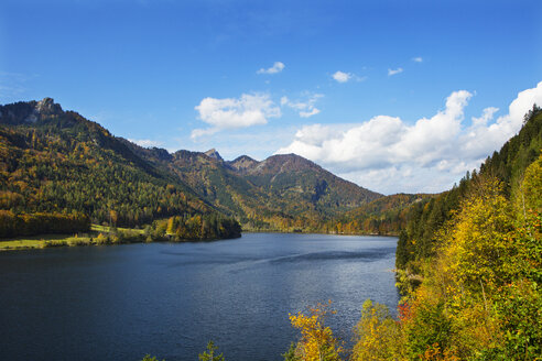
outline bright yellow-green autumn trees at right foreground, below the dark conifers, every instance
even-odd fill
[[[399,319],[364,305],[349,360],[542,357],[542,157],[527,169],[520,198],[507,199],[495,177],[477,179],[437,232],[420,284],[400,280],[409,286]]]

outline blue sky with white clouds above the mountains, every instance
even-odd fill
[[[451,188],[542,106],[541,1],[2,0],[0,103],[142,146]]]

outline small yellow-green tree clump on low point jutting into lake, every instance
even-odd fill
[[[237,220],[218,214],[174,216],[153,222],[154,240],[213,240],[241,237]]]

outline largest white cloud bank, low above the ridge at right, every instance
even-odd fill
[[[378,116],[337,125],[308,124],[277,153],[305,156],[357,184],[387,194],[442,192],[473,169],[520,129],[533,103],[542,105],[542,81],[518,94],[508,113],[494,119],[497,108],[465,121],[471,94],[452,92],[444,109],[408,123]]]

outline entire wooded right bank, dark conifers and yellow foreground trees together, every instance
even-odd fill
[[[534,107],[480,173],[409,211],[398,319],[366,302],[346,354],[325,308],[291,316],[285,360],[541,360],[541,125]]]

